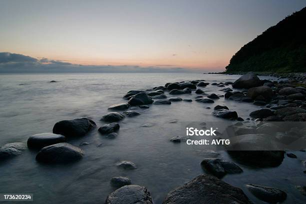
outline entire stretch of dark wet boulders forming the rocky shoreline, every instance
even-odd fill
[[[252,102],[258,110],[249,113],[249,117],[239,117],[236,111],[223,104],[215,105],[211,114],[221,119],[237,121],[239,136],[249,141],[261,138],[266,128],[275,128],[273,121],[306,121],[306,84],[305,73],[280,76],[285,80],[260,80],[255,73],[249,72],[236,81],[219,81],[209,84],[205,80],[167,82],[164,85],[146,90],[130,90],[123,98],[125,103],[109,106],[107,114],[101,117],[105,124],[97,128],[96,122],[88,117],[61,120],[54,124],[52,133],[39,133],[30,136],[27,147],[37,151],[36,160],[40,163],[76,162],[85,153],[81,148],[67,143],[69,138],[80,138],[89,131],[98,131],[101,136],[115,138],[120,128],[119,122],[127,117],[140,113],[132,107],[149,108],[151,105],[174,105],[175,102],[190,102],[184,95],[195,94],[194,101],[214,103],[216,99],[225,97],[237,102]],[[215,86],[224,94],[205,93],[207,85]],[[231,87],[230,87],[231,86]],[[239,90],[233,90],[239,89]],[[168,97],[170,95],[170,97]],[[118,111],[118,112],[117,112]],[[251,123],[252,121],[253,123]],[[251,123],[251,124],[250,124]],[[96,130],[97,129],[97,130]],[[296,130],[302,136],[306,129]],[[289,135],[280,135],[280,140]],[[175,137],[172,142],[180,142],[185,138]],[[170,141],[169,141],[170,142]],[[0,148],[1,160],[20,155],[25,145],[19,142],[8,143]],[[301,149],[304,150],[304,149]],[[284,154],[294,159],[292,152],[277,151],[228,151],[243,165],[267,167],[280,165]],[[133,170],[137,165],[132,161],[122,160],[116,163],[118,168]],[[206,174],[198,175],[184,185],[174,188],[164,198],[164,204],[170,203],[252,203],[244,192],[221,180],[222,176],[231,173],[243,173],[243,170],[230,161],[205,158],[200,166]],[[305,172],[305,171],[304,171]],[[149,190],[140,185],[132,184],[128,177],[116,176],[109,178],[110,184],[117,188],[106,198],[105,203],[153,203]],[[262,186],[246,183],[246,188],[258,199],[268,203],[281,202],[286,199],[286,192],[273,186]],[[302,187],[301,189],[304,189]],[[296,189],[298,190],[298,189]]]

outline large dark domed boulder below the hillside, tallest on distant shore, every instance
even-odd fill
[[[232,84],[233,88],[251,88],[256,86],[261,86],[262,81],[256,76],[253,72],[248,72],[237,80],[235,80]]]

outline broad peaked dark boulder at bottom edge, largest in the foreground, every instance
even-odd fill
[[[252,203],[240,188],[215,176],[202,174],[171,190],[163,204]]]

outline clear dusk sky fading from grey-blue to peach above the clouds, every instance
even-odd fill
[[[242,45],[304,6],[306,0],[1,0],[0,52],[84,66],[221,71]]]

